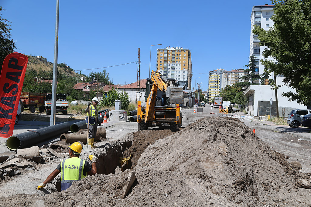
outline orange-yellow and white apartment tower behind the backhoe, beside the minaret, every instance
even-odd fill
[[[165,78],[174,78],[178,85],[191,88],[191,52],[183,47],[157,49],[157,70]]]

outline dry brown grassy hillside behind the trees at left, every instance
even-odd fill
[[[27,55],[28,56],[28,55]],[[53,63],[45,60],[40,60],[36,58],[35,56],[28,56],[28,64],[27,64],[27,69],[26,70],[35,70],[38,73],[41,71],[46,71],[50,72],[51,69],[53,69]],[[66,68],[66,67],[60,67],[58,66],[58,70],[62,74],[66,74],[67,76],[72,76],[72,77],[85,77],[83,74],[77,74],[73,69],[71,68]]]

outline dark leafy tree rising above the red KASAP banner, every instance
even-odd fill
[[[13,39],[11,39],[11,25],[9,25],[9,20],[3,19],[1,17],[2,13],[1,11],[5,11],[5,9],[2,9],[0,7],[0,72],[2,70],[2,64],[4,61],[4,58],[12,53],[15,52],[16,45]]]

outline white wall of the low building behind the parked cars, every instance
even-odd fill
[[[277,90],[279,108],[291,107],[296,109],[306,109],[307,106],[298,104],[296,101],[289,101],[287,97],[281,95],[282,92],[290,91],[294,92],[292,88],[289,88],[286,85],[279,87]],[[258,101],[270,101],[270,98],[272,98],[273,101],[276,101],[275,90],[272,90],[270,85],[251,85],[247,88],[245,94],[249,95],[247,110],[250,112],[250,115],[253,116],[258,115]],[[253,105],[253,107],[251,105]]]

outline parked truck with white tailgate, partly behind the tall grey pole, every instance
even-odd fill
[[[46,94],[45,101],[45,113],[47,115],[51,114],[51,106],[52,106],[52,94]],[[67,101],[66,94],[56,94],[56,109],[55,112],[62,112],[63,115],[67,115],[67,108],[69,106],[69,102]]]

